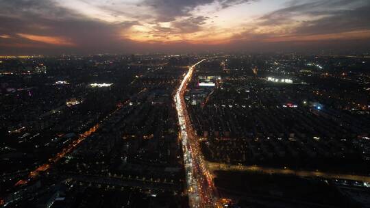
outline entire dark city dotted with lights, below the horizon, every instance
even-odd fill
[[[0,205],[361,207],[370,183],[366,59],[5,59]]]

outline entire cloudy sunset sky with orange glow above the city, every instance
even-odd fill
[[[369,0],[0,0],[1,55],[369,47]]]

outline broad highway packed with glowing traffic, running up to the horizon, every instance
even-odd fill
[[[212,175],[206,170],[204,165],[199,142],[190,124],[186,104],[183,99],[188,81],[193,75],[193,70],[201,62],[204,62],[204,60],[190,66],[188,73],[186,73],[180,87],[177,89],[174,100],[180,125],[182,150],[184,152],[189,207],[216,207],[217,205],[214,201],[217,200],[217,192],[213,184]]]

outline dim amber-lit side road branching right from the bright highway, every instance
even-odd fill
[[[309,170],[291,170],[288,168],[267,168],[261,166],[240,166],[240,165],[229,165],[208,162],[208,168],[212,171],[215,170],[227,170],[227,171],[246,171],[246,172],[259,172],[263,174],[288,174],[295,175],[297,177],[321,177],[324,179],[345,179],[353,181],[363,181],[370,183],[370,177],[354,175],[354,174],[340,174],[330,173],[321,171],[309,171]]]

